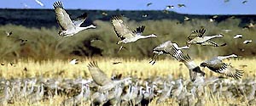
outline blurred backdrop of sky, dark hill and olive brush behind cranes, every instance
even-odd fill
[[[245,58],[256,54],[256,1],[253,0],[61,0],[75,19],[84,12],[88,18],[82,26],[94,24],[96,29],[81,31],[75,36],[58,36],[54,0],[8,0],[0,2],[0,59],[71,59],[90,57],[134,58],[152,57],[154,47],[162,42],[184,46],[189,34],[200,28],[206,36],[224,35],[214,42],[225,47],[192,46],[185,50],[195,59],[236,53]],[[110,19],[123,15],[131,30],[146,25],[144,34],[157,38],[119,45]],[[7,33],[12,32],[11,36]],[[241,34],[242,38],[234,39]],[[244,44],[246,40],[251,43]]]

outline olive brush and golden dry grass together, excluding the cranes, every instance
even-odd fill
[[[110,77],[122,74],[122,77],[132,76],[138,79],[154,79],[156,77],[177,79],[189,79],[189,71],[184,64],[177,62],[168,56],[160,56],[156,64],[149,64],[153,56],[152,50],[162,42],[177,42],[184,46],[189,34],[200,28],[207,29],[206,35],[223,34],[221,39],[214,39],[218,43],[227,43],[225,47],[202,47],[192,46],[184,53],[189,53],[196,64],[212,56],[228,55],[236,53],[237,59],[225,60],[231,63],[236,69],[244,70],[241,81],[255,81],[256,59],[254,28],[241,28],[241,20],[227,19],[222,22],[210,22],[209,20],[191,19],[181,23],[178,20],[145,20],[137,22],[125,18],[127,25],[136,29],[139,25],[146,25],[145,34],[154,33],[157,38],[139,40],[131,44],[125,44],[126,49],[117,53],[119,45],[116,45],[117,37],[110,22],[95,20],[93,23],[96,29],[81,31],[75,36],[58,36],[58,28],[27,28],[21,25],[0,26],[0,77],[2,79],[25,79],[25,78],[46,78],[46,79],[77,79],[90,78],[87,64],[90,61],[97,61],[99,67]],[[224,32],[223,30],[231,30]],[[13,35],[5,36],[4,31],[13,31]],[[242,39],[233,39],[236,34],[242,34]],[[27,42],[20,42],[20,39]],[[97,40],[98,39],[98,40]],[[243,44],[244,40],[253,40],[250,44]],[[79,64],[69,64],[71,59],[79,59]],[[121,62],[113,64],[113,62]],[[206,78],[218,77],[218,74],[203,69]],[[227,78],[229,79],[229,78]],[[212,96],[207,91],[207,103],[205,105],[247,105],[245,96],[234,99]],[[59,105],[67,97],[49,97],[45,101],[35,105]],[[12,105],[29,105],[26,101],[15,102]],[[84,103],[88,105],[89,103]],[[156,104],[156,99],[151,105]],[[160,105],[178,105],[170,98]]]

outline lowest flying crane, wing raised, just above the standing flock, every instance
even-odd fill
[[[96,84],[100,86],[98,92],[111,90],[114,86],[117,86],[124,81],[131,80],[131,77],[128,77],[120,81],[111,81],[111,79],[108,78],[108,76],[99,68],[95,61],[88,64],[88,69],[93,81],[95,81]]]

